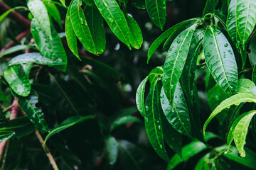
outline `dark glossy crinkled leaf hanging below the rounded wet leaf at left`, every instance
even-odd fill
[[[46,120],[43,118],[42,109],[36,107],[38,103],[38,95],[35,91],[31,90],[31,94],[27,97],[16,96],[18,98],[18,106],[26,113],[29,120],[36,126],[39,132],[48,132]]]

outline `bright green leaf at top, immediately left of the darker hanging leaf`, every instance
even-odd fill
[[[85,14],[82,11],[82,0],[73,0],[73,3],[70,5],[70,18],[77,35],[78,40],[85,47],[85,50],[91,52],[94,55],[97,55],[95,41],[92,39],[92,34],[90,33],[90,28],[85,19]]]

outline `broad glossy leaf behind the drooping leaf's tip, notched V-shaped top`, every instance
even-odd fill
[[[191,123],[189,121],[188,106],[184,98],[181,85],[178,83],[175,91],[174,103],[171,106],[164,89],[161,89],[161,107],[172,127],[183,135],[191,137]],[[171,111],[174,108],[174,111]]]

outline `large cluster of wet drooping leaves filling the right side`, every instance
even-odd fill
[[[217,149],[215,155],[206,154],[198,162],[199,169],[216,168],[215,164],[223,153],[230,152],[233,141],[240,157],[245,157],[247,131],[256,113],[254,105],[245,105],[255,103],[256,98],[255,25],[256,1],[208,0],[203,18],[178,23],[153,42],[148,62],[167,39],[163,46],[163,50],[168,51],[166,60],[164,66],[153,69],[139,85],[136,101],[145,120],[149,141],[161,158],[170,160],[166,152],[167,144],[186,160],[183,149],[181,152],[181,135],[206,142],[203,137],[206,127],[219,113],[223,114],[218,115],[220,123],[226,119],[226,126],[223,127],[228,132],[228,145]],[[206,89],[203,92],[206,92],[213,110],[203,126],[203,132],[198,107],[201,96],[198,96],[196,81],[198,77],[203,77],[202,71],[206,72],[206,81],[203,82]],[[145,93],[147,81],[150,86],[149,92]],[[255,135],[255,120],[251,126]],[[174,168],[176,161],[171,159],[169,169]],[[249,164],[247,166],[254,168]]]

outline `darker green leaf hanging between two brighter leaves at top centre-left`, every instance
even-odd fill
[[[92,39],[95,42],[97,55],[102,54],[106,47],[105,28],[103,18],[95,6],[87,6],[85,8],[85,18],[92,34]]]

